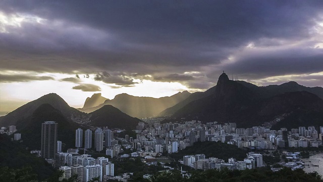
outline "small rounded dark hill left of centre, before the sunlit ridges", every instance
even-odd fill
[[[89,113],[91,115],[91,125],[108,126],[110,128],[126,128],[133,129],[141,121],[138,118],[131,117],[119,109],[105,105],[100,109]]]

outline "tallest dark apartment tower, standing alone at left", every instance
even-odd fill
[[[45,121],[41,124],[41,149],[40,154],[45,159],[55,159],[57,152],[57,123]]]

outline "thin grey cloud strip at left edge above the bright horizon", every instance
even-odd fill
[[[53,77],[50,76],[35,76],[35,75],[7,75],[0,74],[0,82],[28,82],[35,80],[53,80]]]

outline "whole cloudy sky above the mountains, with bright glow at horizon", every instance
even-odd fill
[[[48,93],[323,86],[322,1],[0,1],[0,114]]]

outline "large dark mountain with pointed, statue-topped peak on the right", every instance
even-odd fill
[[[294,92],[295,89],[299,91],[302,88],[306,90]],[[238,127],[261,125],[284,115],[280,122],[273,124],[288,127],[284,123],[292,116],[290,113],[297,113],[300,110],[305,113],[321,113],[323,111],[322,99],[308,92],[315,93],[320,89],[322,88],[301,86],[296,82],[258,87],[244,81],[229,80],[228,76],[223,73],[219,77],[217,86],[205,92],[212,94],[201,93],[199,99],[188,104],[185,103],[185,105],[183,102],[178,103],[168,110],[173,109],[169,111],[169,113],[174,113],[170,117],[173,120],[185,118],[186,120],[197,119],[205,122],[236,122]],[[323,125],[323,117],[320,117],[320,114],[315,116],[319,118],[311,118],[321,120],[321,125]],[[302,124],[307,126],[315,123],[304,122]],[[316,122],[316,124],[318,123]]]

